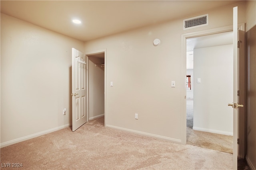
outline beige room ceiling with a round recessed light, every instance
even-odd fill
[[[153,25],[239,0],[1,0],[1,12],[81,41]],[[72,23],[79,19],[81,24]]]

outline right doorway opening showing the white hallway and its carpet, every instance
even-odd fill
[[[233,152],[232,31],[186,39],[186,143]]]

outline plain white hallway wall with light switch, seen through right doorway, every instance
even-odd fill
[[[193,129],[232,135],[232,101],[233,45],[194,49]]]

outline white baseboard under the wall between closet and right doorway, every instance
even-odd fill
[[[164,137],[164,136],[160,136],[160,135],[154,135],[154,134],[151,134],[151,133],[134,131],[134,130],[131,130],[131,129],[126,129],[126,128],[122,128],[122,127],[116,127],[116,126],[112,126],[112,125],[106,125],[106,127],[110,127],[112,129],[118,129],[118,130],[121,130],[121,131],[130,132],[130,133],[135,133],[135,134],[138,134],[138,135],[144,135],[144,136],[148,136],[148,137],[164,139],[164,140],[167,140],[167,141],[171,141],[172,143],[179,143],[179,144],[181,144],[181,140],[178,140],[178,139],[173,139],[173,138]]]

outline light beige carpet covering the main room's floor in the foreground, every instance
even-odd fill
[[[105,128],[102,117],[4,147],[4,163],[22,163],[18,170],[228,170],[232,154]]]

